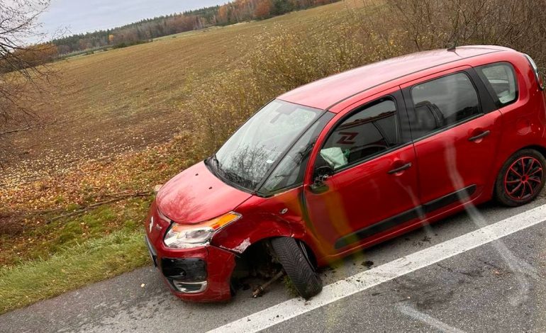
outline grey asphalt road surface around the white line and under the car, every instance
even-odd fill
[[[323,272],[325,285],[440,244],[531,208],[479,207],[411,232]],[[481,221],[481,222],[480,222]],[[546,222],[457,254],[286,320],[266,332],[546,332]],[[144,286],[142,286],[144,285]],[[228,303],[183,303],[155,269],[0,316],[0,332],[206,332],[289,300],[282,283],[262,298],[240,290]],[[303,302],[303,301],[302,301]]]

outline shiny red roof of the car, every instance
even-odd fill
[[[389,81],[401,79],[426,69],[442,67],[442,65],[450,64],[455,67],[455,62],[501,51],[516,52],[507,47],[494,45],[470,45],[457,47],[455,50],[443,49],[403,55],[313,81],[282,94],[279,99],[303,106],[330,110],[351,96]]]

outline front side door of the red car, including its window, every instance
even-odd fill
[[[319,137],[310,169],[333,173],[306,184],[304,196],[326,252],[351,249],[416,218],[416,154],[403,130],[404,108],[396,87],[334,118]]]

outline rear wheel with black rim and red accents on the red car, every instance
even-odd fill
[[[535,200],[544,187],[545,166],[546,159],[535,149],[522,149],[513,154],[504,162],[496,178],[496,200],[508,207],[525,205]]]

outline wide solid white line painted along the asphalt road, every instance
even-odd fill
[[[448,259],[457,254],[462,254],[481,245],[493,242],[546,220],[546,205],[528,210],[525,213],[514,215],[511,218],[501,220],[492,225],[469,232],[465,235],[436,244],[421,251],[403,256],[389,263],[377,266],[369,271],[363,271],[343,280],[331,283],[323,288],[323,291],[309,301],[301,298],[292,298],[260,312],[235,320],[222,327],[209,332],[258,332],[267,327],[284,322],[303,313],[315,310],[330,303],[359,293],[391,281],[399,276],[406,275],[423,267],[430,266],[439,261]]]

